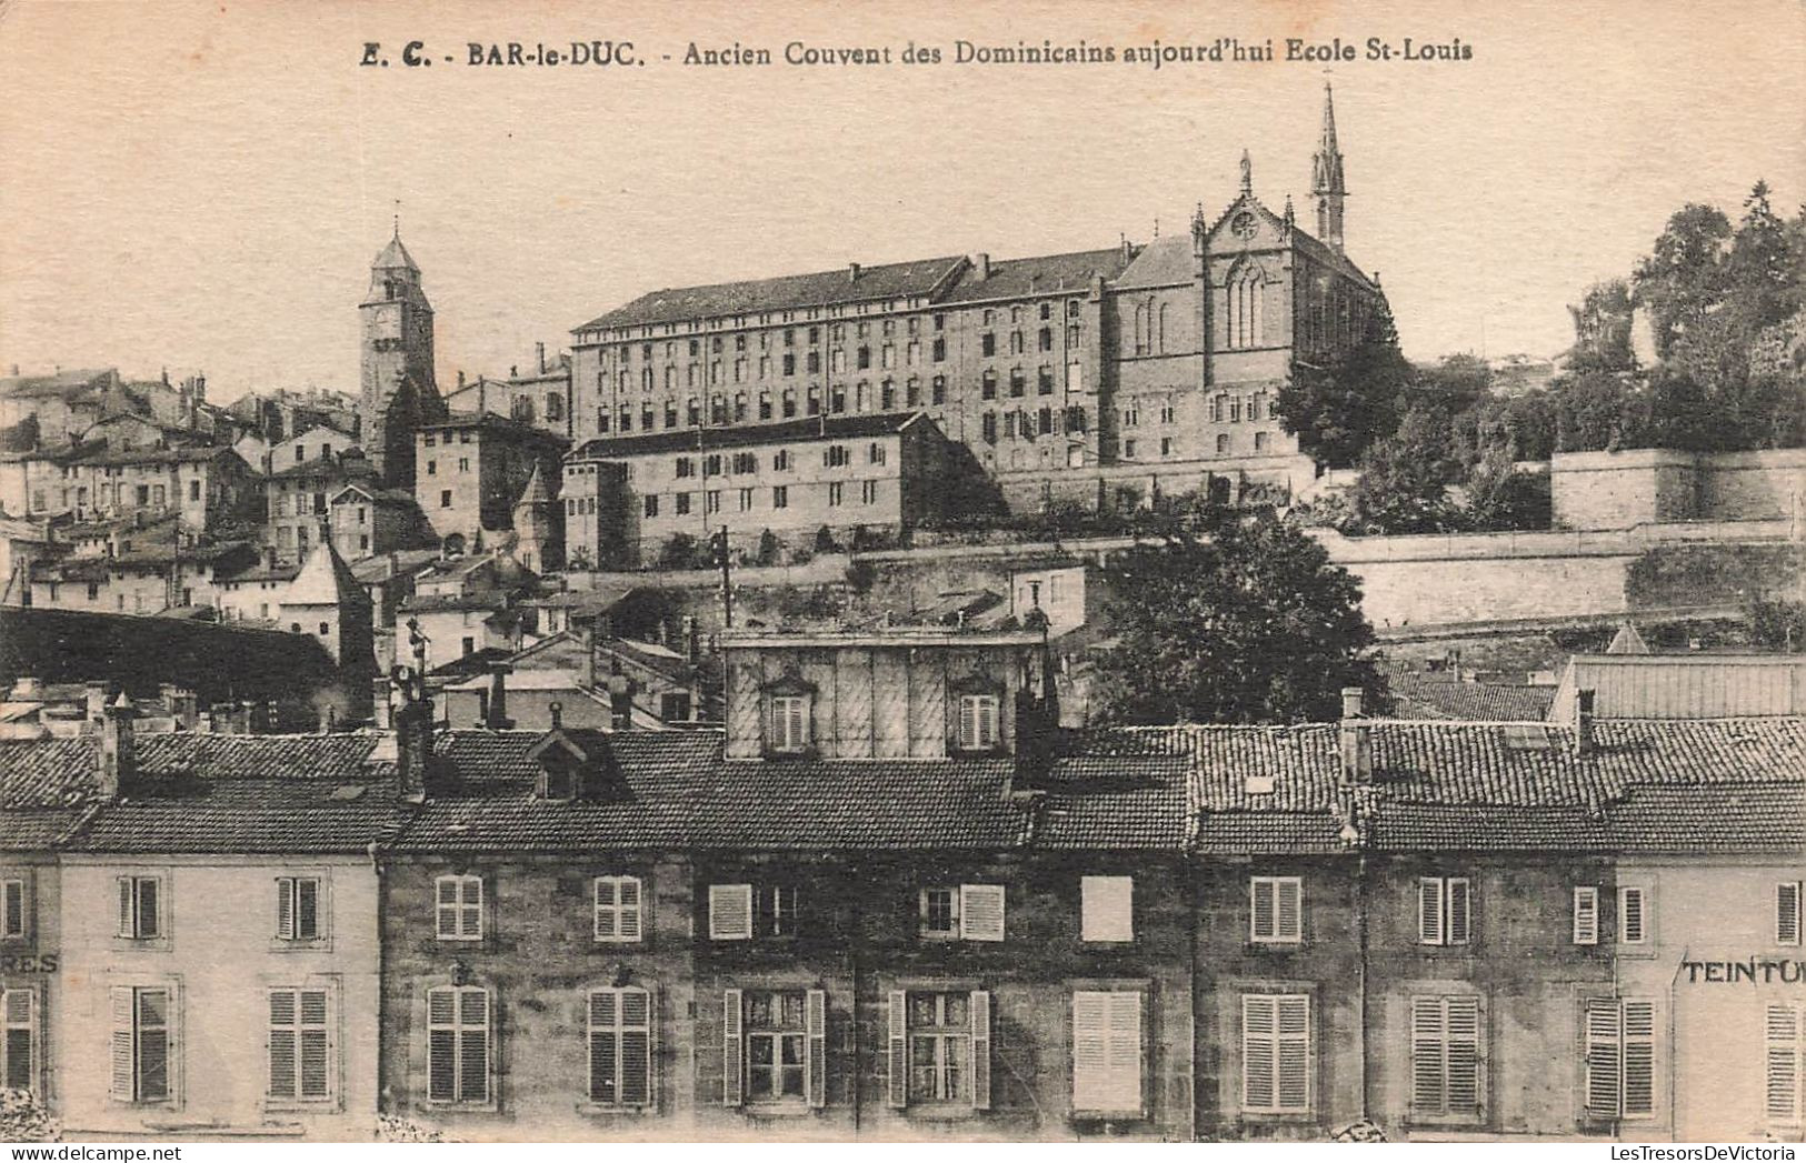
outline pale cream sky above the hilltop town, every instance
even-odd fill
[[[1356,47],[1353,61],[959,65],[955,42]],[[1459,40],[1466,60],[1400,60]],[[1365,60],[1369,38],[1392,60]],[[403,45],[432,67],[405,67]],[[470,67],[468,43],[632,42],[628,67]],[[367,42],[390,67],[361,67]],[[688,45],[769,67],[684,67]],[[885,47],[890,65],[786,65]],[[903,65],[910,43],[937,65]],[[401,237],[441,385],[659,287],[1145,242],[1253,190],[1309,226],[1335,85],[1347,253],[1407,356],[1553,354],[1689,200],[1806,197],[1806,5],[38,4],[0,0],[0,372],[358,385]],[[452,56],[446,61],[444,56]],[[665,60],[665,58],[670,60]]]

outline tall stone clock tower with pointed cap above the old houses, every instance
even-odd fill
[[[444,415],[433,381],[433,307],[421,289],[401,231],[370,264],[363,316],[361,385],[363,450],[390,488],[414,488],[414,433],[423,421]]]

